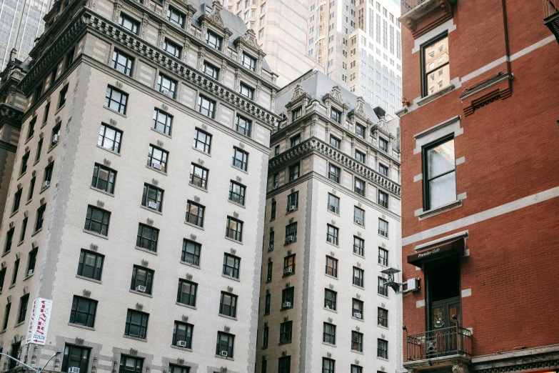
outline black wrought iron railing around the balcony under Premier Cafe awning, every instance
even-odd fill
[[[407,361],[450,355],[472,355],[472,337],[468,329],[448,327],[406,336]]]

